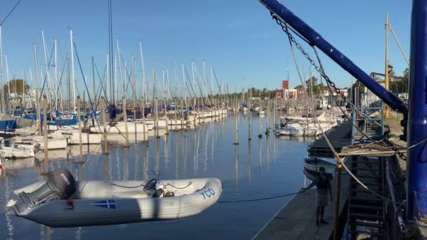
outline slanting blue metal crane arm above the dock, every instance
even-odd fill
[[[348,73],[361,81],[364,86],[367,86],[372,93],[377,95],[381,100],[386,102],[388,106],[392,109],[397,110],[398,112],[407,113],[407,107],[397,96],[393,95],[378,84],[374,79],[371,78],[368,74],[362,71],[360,67],[357,67],[350,59],[341,53],[338,49],[334,48],[328,41],[323,39],[323,37],[317,33],[313,28],[311,28],[306,22],[303,22],[298,18],[294,13],[289,11],[288,8],[280,4],[277,0],[259,0],[269,11],[277,15],[278,18],[287,22],[296,32],[301,34],[312,46],[316,46],[329,58],[334,60],[338,65],[345,69]]]

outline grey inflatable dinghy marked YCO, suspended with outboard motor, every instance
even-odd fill
[[[158,187],[160,185],[160,187]],[[159,196],[159,189],[162,193]],[[223,190],[217,178],[150,181],[77,181],[66,168],[15,190],[8,211],[49,227],[172,220],[202,213]]]

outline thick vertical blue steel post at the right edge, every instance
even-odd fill
[[[427,0],[412,1],[407,145],[427,137]],[[427,143],[407,152],[407,219],[427,215]]]

